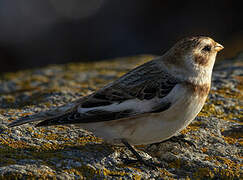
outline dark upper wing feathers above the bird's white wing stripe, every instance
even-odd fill
[[[105,106],[129,99],[150,100],[155,96],[163,98],[177,83],[178,79],[159,68],[157,61],[150,61],[98,90],[81,107]]]

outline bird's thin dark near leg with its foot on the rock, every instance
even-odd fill
[[[135,163],[135,162],[140,162],[144,164],[145,166],[152,167],[153,169],[157,169],[157,167],[161,167],[161,164],[155,164],[155,163],[150,163],[148,161],[145,161],[139,154],[138,152],[125,140],[122,139],[122,143],[133,153],[134,156],[136,156],[137,160],[127,160],[125,163],[130,164],[130,163]]]

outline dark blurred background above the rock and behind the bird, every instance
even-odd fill
[[[167,51],[191,35],[243,51],[240,1],[0,0],[0,72]]]

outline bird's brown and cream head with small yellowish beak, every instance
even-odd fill
[[[217,52],[224,47],[209,37],[188,37],[177,42],[166,53],[166,64],[192,78],[210,76]]]

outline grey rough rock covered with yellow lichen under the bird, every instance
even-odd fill
[[[243,157],[243,56],[219,62],[197,118],[181,133],[195,144],[138,146],[150,169],[124,147],[108,145],[76,126],[36,128],[6,124],[61,106],[102,87],[153,58],[136,56],[97,63],[52,65],[0,78],[0,179],[241,179]]]

